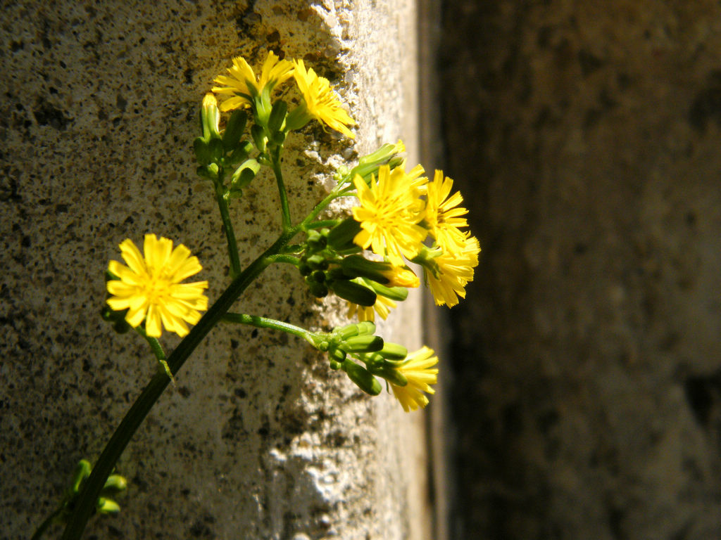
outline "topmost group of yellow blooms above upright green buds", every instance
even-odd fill
[[[354,138],[348,128],[355,125],[355,121],[337,98],[330,82],[312,69],[306,70],[303,60],[280,60],[270,51],[257,77],[247,61],[238,56],[233,59],[228,74],[220,75],[213,81],[218,84],[213,87],[213,92],[228,96],[221,104],[221,111],[255,107],[257,99],[269,102],[275,87],[291,76],[303,98],[301,105],[288,116],[288,124],[292,125],[292,129],[298,129],[310,120],[317,120],[321,125]]]

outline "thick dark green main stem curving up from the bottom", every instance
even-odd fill
[[[265,253],[255,259],[255,261],[233,279],[225,292],[221,294],[221,297],[211,305],[208,312],[203,315],[203,318],[198,321],[198,324],[190,330],[190,333],[183,338],[177,348],[175,348],[168,357],[168,365],[173,375],[177,374],[190,354],[192,354],[200,344],[200,341],[203,341],[203,338],[208,335],[208,332],[211,331],[213,326],[223,318],[231,305],[233,305],[242,292],[247,289],[249,284],[251,284],[268,265],[273,263],[274,256],[278,254],[280,249],[283,248],[299,230],[300,228],[294,227],[291,228],[291,230],[285,231],[280,235],[278,240],[275,240],[273,246],[270,246]],[[163,372],[156,373],[148,383],[148,386],[141,392],[141,395],[138,396],[136,402],[133,403],[131,409],[128,410],[128,413],[125,414],[125,418],[120,422],[120,426],[118,426],[115,433],[110,437],[110,441],[105,445],[105,449],[102,451],[102,454],[100,454],[97,463],[92,469],[92,473],[87,478],[87,481],[84,482],[75,510],[70,516],[65,531],[63,532],[62,540],[79,540],[95,508],[97,497],[105,485],[105,480],[107,480],[107,477],[112,473],[112,469],[115,467],[115,463],[118,461],[120,454],[123,454],[125,446],[128,446],[128,442],[130,442],[138,427],[143,423],[146,415],[148,415],[155,402],[159,399],[160,395],[162,395],[169,382],[170,379],[167,377],[167,374]]]

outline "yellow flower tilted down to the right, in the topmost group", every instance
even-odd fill
[[[355,138],[353,132],[348,129],[348,126],[355,125],[355,120],[343,109],[328,79],[317,76],[312,69],[306,71],[303,60],[295,60],[295,66],[293,77],[296,78],[298,89],[303,94],[307,114],[318,122],[340,131],[346,137]]]

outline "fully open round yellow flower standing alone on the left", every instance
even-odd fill
[[[127,309],[125,320],[133,328],[145,320],[148,336],[159,338],[161,323],[169,332],[185,336],[185,323],[198,323],[198,310],[208,309],[208,297],[203,294],[208,282],[180,282],[203,267],[182,244],[173,249],[168,238],[145,235],[143,251],[144,257],[133,240],[120,243],[120,254],[128,266],[110,261],[108,270],[120,279],[107,282],[107,292],[112,294],[107,304],[116,311]]]

